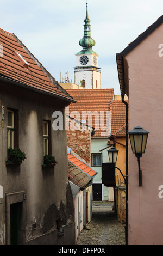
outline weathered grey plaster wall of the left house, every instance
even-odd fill
[[[54,119],[55,110],[64,113],[64,105],[57,99],[47,99],[35,93],[4,84],[6,92],[1,92],[0,101],[4,106],[4,127],[0,127],[2,147],[0,151],[0,185],[4,198],[0,208],[1,244],[5,244],[5,193],[26,191],[26,239],[34,241],[38,236],[57,229],[56,221],[69,225],[74,221],[74,207],[68,183],[66,131],[52,131],[52,155],[57,160],[54,169],[43,169],[43,120]],[[5,91],[5,90],[4,90]],[[47,104],[48,102],[48,104]],[[7,160],[7,108],[18,109],[19,147],[27,153],[27,159],[20,166],[6,166]],[[0,113],[2,113],[0,111]],[[16,203],[16,202],[14,202]],[[9,220],[10,216],[6,216]],[[33,229],[33,224],[36,229]]]

